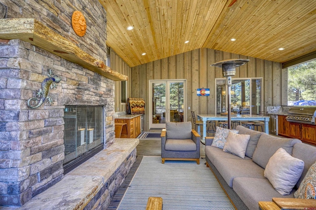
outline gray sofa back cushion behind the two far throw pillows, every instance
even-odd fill
[[[249,139],[249,141],[248,141],[248,145],[247,145],[247,148],[246,148],[246,153],[245,153],[245,155],[246,155],[247,157],[252,158],[253,153],[254,153],[254,151],[255,151],[255,149],[256,149],[256,146],[257,146],[257,144],[258,144],[258,140],[259,140],[261,134],[264,134],[264,133],[259,132],[259,131],[254,131],[254,130],[251,130],[251,129],[248,129],[248,128],[245,128],[245,127],[243,127],[243,126],[241,126],[241,125],[238,125],[238,126],[236,127],[236,130],[239,131],[238,134],[250,135],[250,139]]]

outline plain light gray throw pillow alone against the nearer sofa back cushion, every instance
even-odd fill
[[[304,161],[279,148],[269,159],[264,175],[278,193],[288,195],[301,177],[303,169]]]

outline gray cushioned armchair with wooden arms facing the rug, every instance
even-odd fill
[[[161,132],[161,159],[194,160],[199,164],[200,136],[192,129],[191,122],[166,122]]]

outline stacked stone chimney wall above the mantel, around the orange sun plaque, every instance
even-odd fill
[[[76,10],[82,12],[87,25],[82,37],[76,35],[71,26],[71,17]],[[106,61],[106,11],[98,0],[2,0],[0,18],[3,17],[35,18],[72,40],[86,53]]]

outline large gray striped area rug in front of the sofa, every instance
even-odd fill
[[[235,210],[204,163],[144,156],[118,210],[145,210],[149,197],[161,197],[163,210]]]

